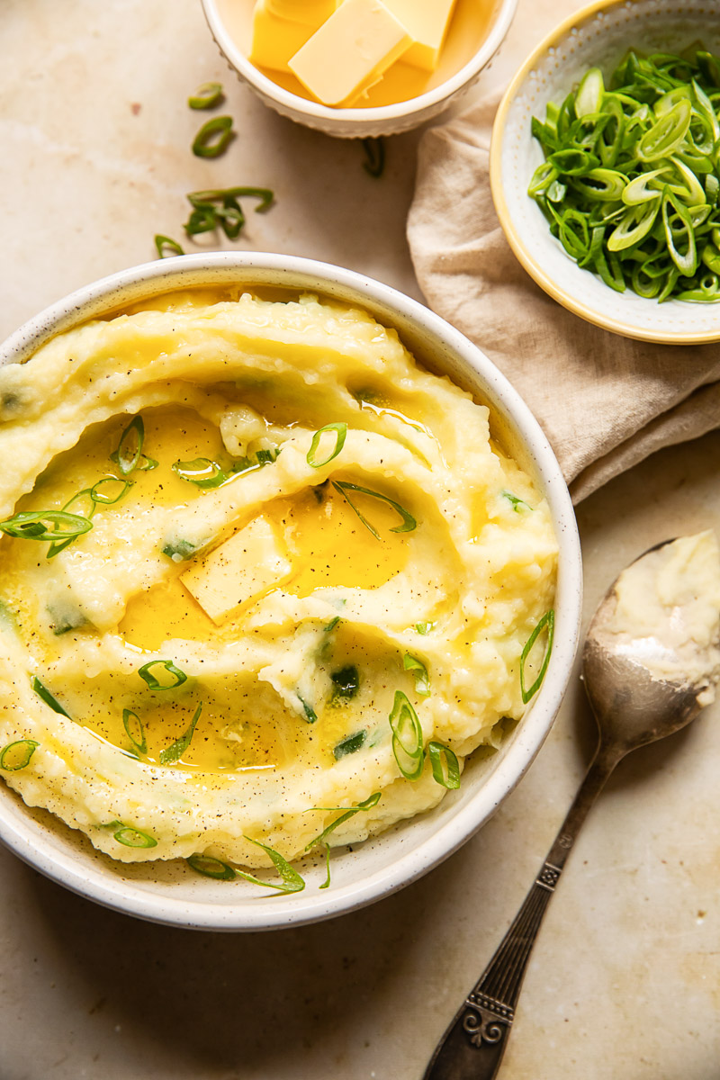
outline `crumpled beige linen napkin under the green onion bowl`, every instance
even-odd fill
[[[720,427],[720,345],[660,346],[609,334],[535,285],[490,194],[497,105],[476,105],[423,136],[410,252],[430,307],[522,394],[579,502],[653,450]]]

